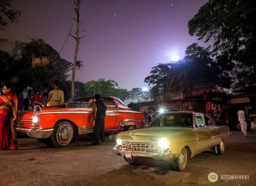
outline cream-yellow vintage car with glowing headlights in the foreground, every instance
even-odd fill
[[[117,134],[113,153],[123,155],[128,163],[139,158],[171,163],[183,171],[188,158],[208,149],[224,153],[224,140],[231,137],[228,126],[216,126],[213,118],[197,112],[157,114],[152,127]]]

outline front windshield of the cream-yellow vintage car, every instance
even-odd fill
[[[192,113],[164,113],[157,114],[152,124],[154,127],[189,127],[193,128]]]

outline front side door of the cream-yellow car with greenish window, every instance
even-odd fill
[[[205,126],[203,115],[195,114],[196,128],[195,133],[197,136],[196,151],[207,150],[211,144],[211,137],[208,128]]]

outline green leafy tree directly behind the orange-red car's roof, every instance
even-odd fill
[[[127,100],[127,98],[129,98],[129,92],[127,89],[119,88],[117,82],[113,80],[92,80],[85,83],[84,88],[87,96],[100,94],[101,96],[118,97],[121,100]]]

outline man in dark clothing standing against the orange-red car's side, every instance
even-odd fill
[[[93,117],[91,121],[95,120],[95,124],[93,127],[94,137],[96,140],[96,144],[100,144],[101,142],[105,141],[105,116],[107,111],[107,106],[104,104],[104,102],[100,99],[100,94],[95,94],[94,96],[95,106],[94,106],[94,112]],[[96,110],[96,112],[95,112]]]

